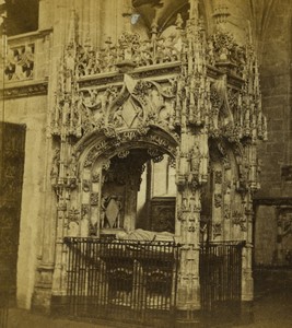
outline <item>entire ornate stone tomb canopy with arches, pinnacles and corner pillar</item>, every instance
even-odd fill
[[[131,201],[145,159],[140,163],[132,157],[139,162],[136,168],[127,164],[132,177],[121,169],[122,161],[135,149],[148,149],[154,161],[163,153],[176,156],[175,230],[185,246],[178,306],[189,303],[191,309],[198,306],[198,294],[185,291],[189,279],[198,280],[194,261],[199,259],[201,232],[208,230],[209,241],[252,242],[250,197],[258,188],[255,144],[266,138],[252,45],[238,46],[222,31],[207,37],[196,4],[191,2],[184,24],[178,16],[176,34],[168,37],[155,32],[141,40],[126,32],[116,45],[108,39],[105,48],[93,49],[90,42],[79,45],[72,28],[50,126],[58,144],[51,180],[59,219],[70,235],[133,229]],[[178,72],[167,65],[177,66]],[[103,83],[98,74],[105,73]],[[92,85],[84,85],[85,80]],[[118,159],[117,167],[113,159]],[[114,173],[119,169],[121,177]],[[209,179],[206,209],[201,194]],[[115,190],[113,183],[119,185]],[[200,215],[208,218],[207,226]],[[71,229],[67,221],[80,226]]]

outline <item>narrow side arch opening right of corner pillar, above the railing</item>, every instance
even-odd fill
[[[201,242],[244,241],[247,230],[244,150],[224,138],[210,138],[209,154],[209,176],[201,194]]]

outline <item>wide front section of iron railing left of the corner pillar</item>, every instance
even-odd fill
[[[170,327],[178,245],[67,237],[69,314]]]

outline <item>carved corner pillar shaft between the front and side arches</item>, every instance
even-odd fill
[[[177,221],[180,232],[180,263],[177,286],[178,325],[198,320],[200,309],[199,282],[199,237],[200,237],[200,156],[194,136],[182,133],[180,153],[177,167]],[[192,153],[195,156],[192,156]]]

